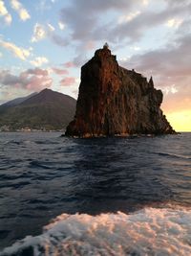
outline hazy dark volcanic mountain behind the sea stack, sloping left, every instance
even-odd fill
[[[0,105],[0,129],[65,129],[74,118],[74,98],[44,89]]]

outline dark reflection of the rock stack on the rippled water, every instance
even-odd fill
[[[80,201],[78,212],[129,211],[173,198],[171,188],[162,183],[162,159],[148,147],[138,151],[136,140],[79,140],[75,150],[79,157],[72,188]]]

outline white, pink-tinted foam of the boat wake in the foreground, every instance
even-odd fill
[[[95,217],[62,214],[41,235],[26,237],[0,255],[191,255],[191,208],[147,207]]]

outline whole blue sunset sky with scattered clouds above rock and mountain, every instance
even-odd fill
[[[0,0],[0,104],[43,88],[76,99],[81,66],[105,42],[191,131],[191,0]]]

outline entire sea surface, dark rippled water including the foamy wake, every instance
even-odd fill
[[[191,133],[0,132],[0,255],[191,255]]]

